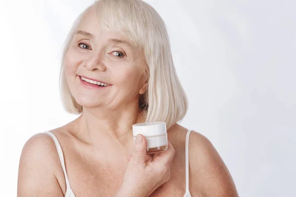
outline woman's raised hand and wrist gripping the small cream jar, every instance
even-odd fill
[[[138,134],[134,149],[125,171],[118,196],[148,197],[170,179],[170,166],[175,149],[168,142],[168,149],[154,155],[147,154],[147,141]]]

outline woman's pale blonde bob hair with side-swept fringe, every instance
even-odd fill
[[[179,81],[172,59],[166,25],[156,10],[142,0],[98,0],[87,7],[74,21],[68,34],[60,71],[60,94],[64,108],[73,114],[82,113],[82,106],[72,96],[67,84],[64,59],[83,15],[94,6],[100,27],[123,35],[144,51],[147,91],[140,95],[139,108],[146,122],[166,122],[167,129],[180,122],[187,112],[187,97]]]

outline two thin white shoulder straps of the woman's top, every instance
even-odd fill
[[[188,158],[188,142],[189,142],[189,134],[190,134],[191,131],[192,130],[188,130],[187,133],[186,133],[186,143],[185,143],[186,192],[185,192],[184,197],[191,197],[191,194],[189,192],[189,158]],[[66,166],[65,166],[65,161],[64,161],[64,155],[63,155],[62,147],[61,147],[61,145],[59,143],[59,140],[50,131],[45,131],[44,133],[47,133],[52,137],[52,139],[53,139],[53,141],[54,141],[54,143],[55,143],[55,145],[57,147],[60,162],[61,162],[62,169],[63,169],[65,179],[66,179],[66,195],[65,195],[65,197],[75,197],[74,192],[71,189],[69,179],[68,179]]]

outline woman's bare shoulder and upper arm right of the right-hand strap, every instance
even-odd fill
[[[189,190],[192,197],[238,197],[234,181],[208,138],[198,132],[189,137]]]

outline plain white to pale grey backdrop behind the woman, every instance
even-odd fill
[[[25,142],[77,116],[58,91],[62,44],[93,0],[0,1],[0,191],[16,196]],[[167,24],[189,100],[240,197],[296,197],[296,3],[147,0]]]

